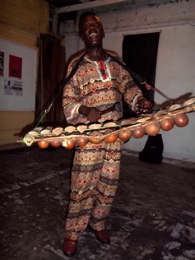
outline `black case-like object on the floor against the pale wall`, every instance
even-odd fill
[[[160,164],[163,157],[163,141],[161,134],[156,136],[148,136],[148,140],[139,153],[139,160],[144,162],[150,162],[155,164]]]

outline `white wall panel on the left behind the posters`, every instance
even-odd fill
[[[0,77],[0,111],[35,111],[37,50],[2,39],[0,50],[4,53],[4,74]],[[21,79],[9,77],[9,55],[22,58]],[[4,80],[20,82],[22,95],[5,95]]]

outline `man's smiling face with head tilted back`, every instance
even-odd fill
[[[98,17],[89,15],[83,19],[81,39],[85,41],[87,47],[100,46],[104,37],[104,30]]]

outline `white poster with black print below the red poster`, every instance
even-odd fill
[[[6,96],[22,96],[22,81],[20,80],[5,80],[4,95]]]

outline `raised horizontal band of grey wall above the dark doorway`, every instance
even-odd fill
[[[135,2],[135,4],[126,3],[84,11],[93,11],[97,14],[106,33],[193,23],[195,20],[194,0],[136,0]],[[78,12],[78,18],[80,13]],[[65,37],[78,35],[78,19],[61,22],[60,34]]]

